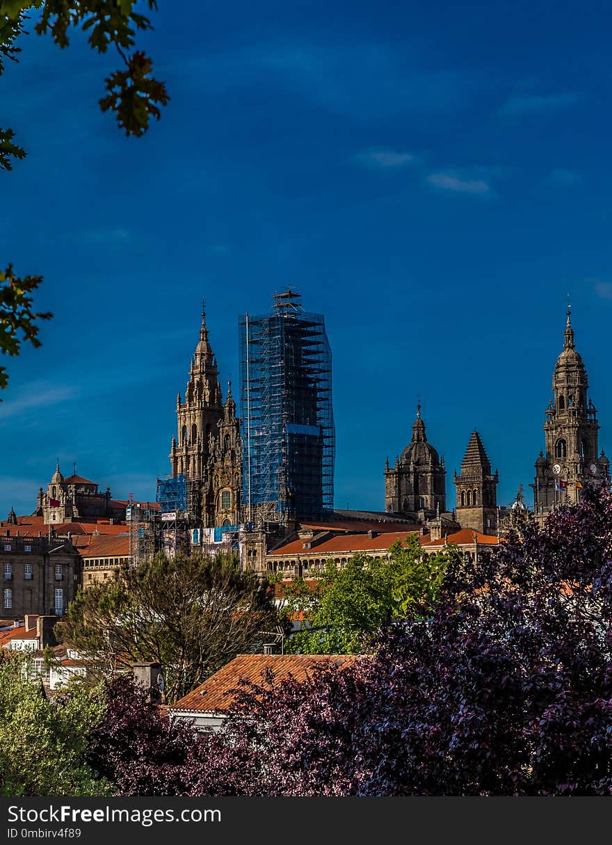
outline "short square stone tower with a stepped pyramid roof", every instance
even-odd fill
[[[461,473],[455,472],[456,518],[462,528],[481,534],[497,532],[497,470],[491,462],[477,431],[472,432],[462,461]]]

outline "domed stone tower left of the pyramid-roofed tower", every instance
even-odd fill
[[[385,511],[410,515],[421,521],[446,510],[444,458],[427,442],[421,406],[413,425],[413,439],[396,457],[395,466],[385,465]]]

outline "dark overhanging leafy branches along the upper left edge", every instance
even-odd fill
[[[150,11],[156,0],[144,0]],[[105,95],[100,99],[103,112],[114,112],[117,125],[127,135],[139,136],[149,127],[150,118],[161,117],[160,106],[169,97],[163,82],[151,75],[152,63],[144,52],[132,48],[138,30],[150,30],[150,19],[135,10],[136,0],[0,0],[0,76],[6,62],[19,61],[21,39],[27,35],[27,21],[36,15],[34,31],[49,33],[62,48],[69,45],[68,33],[81,29],[93,50],[106,53],[114,47],[121,68],[105,80]],[[13,128],[0,127],[0,171],[11,170],[14,161],[25,158],[25,150],[15,142]],[[0,352],[18,355],[22,341],[41,346],[37,320],[50,319],[51,313],[35,312],[31,294],[41,283],[40,275],[15,275],[12,264],[0,270]],[[0,367],[0,390],[8,381],[5,367]]]

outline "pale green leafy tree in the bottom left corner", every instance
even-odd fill
[[[108,795],[110,783],[85,759],[101,721],[101,690],[71,689],[47,701],[29,659],[0,660],[0,795]]]

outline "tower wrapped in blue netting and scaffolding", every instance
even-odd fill
[[[287,290],[271,314],[239,319],[239,342],[245,517],[319,518],[333,510],[336,452],[325,318]]]

